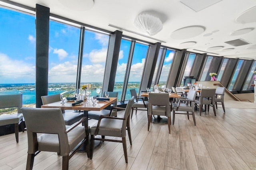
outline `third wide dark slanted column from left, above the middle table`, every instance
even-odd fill
[[[148,56],[146,57],[145,61],[146,64],[142,72],[140,91],[145,91],[147,87],[150,88],[151,86],[160,46],[161,43],[155,43],[154,45],[149,46]]]

